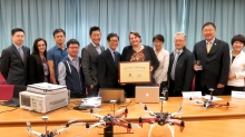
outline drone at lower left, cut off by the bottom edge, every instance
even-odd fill
[[[56,135],[59,135],[59,134],[62,133],[62,131],[67,131],[68,128],[69,128],[69,126],[70,126],[70,124],[74,123],[74,121],[76,121],[77,119],[71,119],[71,120],[69,120],[67,124],[65,124],[65,127],[62,127],[61,129],[59,129],[59,130],[55,129],[55,130],[52,130],[52,131],[47,130],[47,120],[48,120],[48,117],[47,117],[47,116],[43,116],[43,117],[42,117],[42,120],[45,120],[45,128],[46,128],[45,133],[38,133],[38,131],[36,131],[36,130],[32,130],[31,124],[30,124],[29,121],[27,121],[27,131],[29,133],[30,136],[31,136],[31,134],[33,134],[33,135],[36,135],[37,137],[55,137]],[[84,123],[82,123],[82,124],[84,124]],[[81,125],[81,124],[76,123],[76,125]]]

